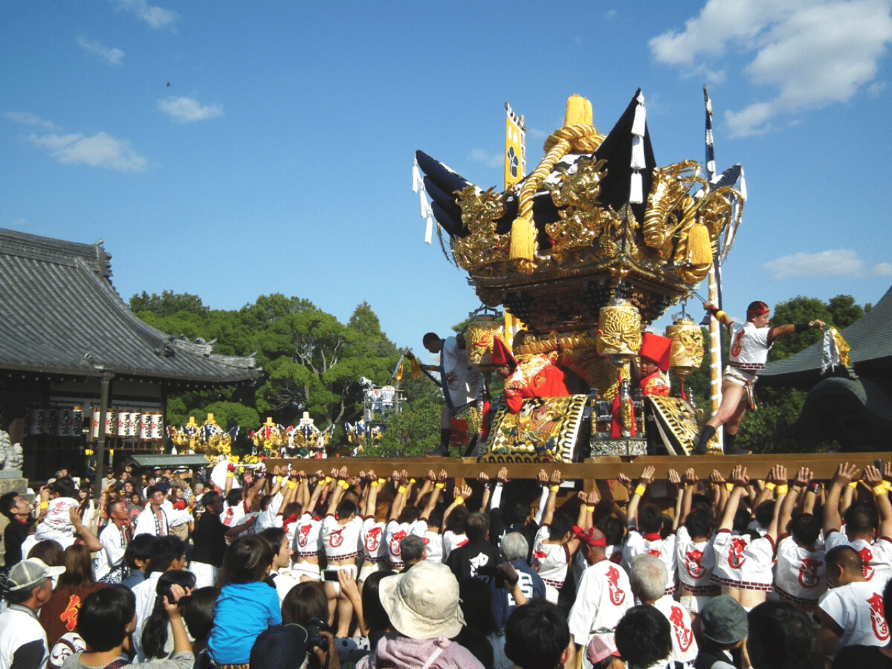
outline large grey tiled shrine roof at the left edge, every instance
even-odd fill
[[[111,285],[111,254],[0,229],[0,369],[233,384],[252,357],[171,337],[136,318]]]

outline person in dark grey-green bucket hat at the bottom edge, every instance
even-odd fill
[[[731,595],[719,595],[700,610],[700,643],[696,669],[748,669],[747,612]],[[617,647],[619,644],[617,644]],[[739,650],[740,665],[734,665],[731,650]],[[622,650],[620,651],[622,652]]]

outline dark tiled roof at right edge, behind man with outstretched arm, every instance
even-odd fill
[[[873,309],[840,334],[852,349],[850,356],[857,374],[871,376],[871,369],[886,370],[892,363],[892,288],[888,289]],[[759,378],[780,383],[804,380],[806,376],[816,378],[820,371],[819,341],[796,355],[768,363]]]

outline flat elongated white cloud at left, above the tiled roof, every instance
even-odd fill
[[[140,172],[146,160],[136,153],[130,143],[108,133],[97,132],[92,137],[80,133],[70,135],[31,135],[29,142],[50,152],[66,165],[84,164],[90,167],[116,169],[120,172]]]

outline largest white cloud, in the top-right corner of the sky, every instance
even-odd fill
[[[657,62],[684,74],[713,72],[707,62],[730,51],[751,55],[744,73],[778,95],[725,120],[731,136],[759,135],[780,114],[847,102],[870,82],[892,42],[890,9],[892,0],[707,0],[684,30],[649,45]]]

